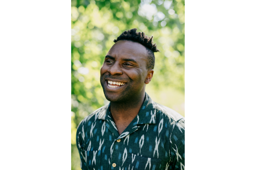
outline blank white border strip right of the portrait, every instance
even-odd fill
[[[186,169],[253,169],[255,1],[186,1]]]

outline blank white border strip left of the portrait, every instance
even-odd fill
[[[1,7],[1,169],[69,170],[70,1]]]

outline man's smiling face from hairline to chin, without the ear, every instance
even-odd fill
[[[105,97],[111,102],[124,102],[140,96],[144,92],[147,72],[146,48],[137,42],[117,41],[100,69]]]

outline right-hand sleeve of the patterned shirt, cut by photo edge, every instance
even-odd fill
[[[185,119],[175,123],[170,138],[172,170],[185,169]]]

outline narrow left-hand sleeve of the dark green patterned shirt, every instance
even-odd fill
[[[83,131],[82,131],[83,126],[81,124],[78,125],[77,131],[76,131],[76,146],[80,155],[80,167],[82,170],[85,169],[85,160],[86,160],[86,155],[85,155],[85,150],[84,150],[84,144],[83,144]]]

